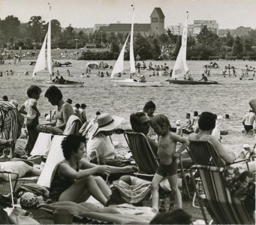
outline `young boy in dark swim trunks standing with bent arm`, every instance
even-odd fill
[[[178,208],[182,208],[182,196],[177,182],[176,159],[187,148],[189,141],[176,133],[170,132],[170,121],[163,114],[155,115],[151,119],[150,125],[158,134],[158,156],[160,159],[159,167],[152,179],[152,211],[158,212],[158,187],[165,177],[167,177],[170,188],[173,190]],[[176,151],[177,142],[182,143],[178,151]]]

